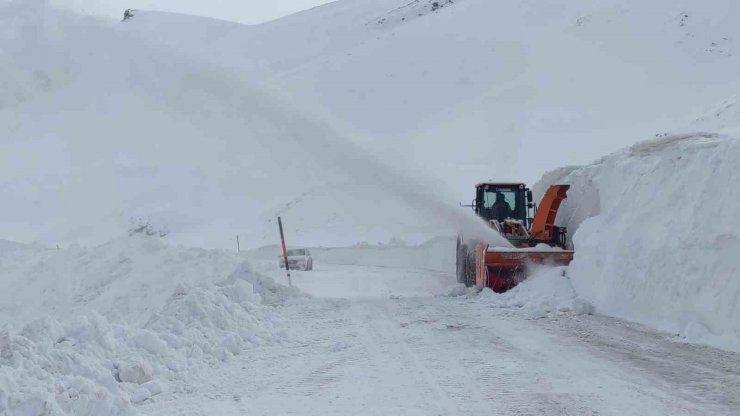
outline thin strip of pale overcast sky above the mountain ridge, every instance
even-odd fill
[[[112,19],[120,19],[125,9],[145,9],[254,24],[329,3],[329,0],[51,0],[51,3]]]

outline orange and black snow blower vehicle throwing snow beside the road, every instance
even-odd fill
[[[477,239],[457,238],[457,281],[503,293],[526,279],[532,265],[567,266],[573,249],[566,229],[555,225],[570,185],[551,186],[539,204],[521,183],[480,183],[469,206],[511,247],[491,247]],[[534,217],[530,214],[534,212]]]

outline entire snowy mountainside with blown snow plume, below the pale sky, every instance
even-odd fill
[[[5,2],[2,236],[150,224],[256,246],[278,214],[297,244],[454,235],[476,181],[583,163],[735,92],[737,6],[713,4],[343,0],[244,26]]]

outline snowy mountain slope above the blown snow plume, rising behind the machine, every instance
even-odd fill
[[[463,198],[481,178],[532,181],[672,131],[725,99],[740,87],[737,7],[344,0],[231,25],[217,39],[182,42],[174,15],[141,12],[126,28],[318,102]]]

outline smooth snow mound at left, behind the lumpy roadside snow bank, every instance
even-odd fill
[[[142,325],[178,285],[221,281],[244,261],[233,252],[185,248],[145,237],[50,249],[0,242],[0,324],[96,310]]]

